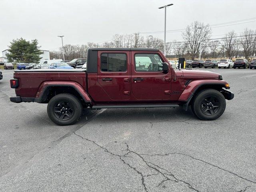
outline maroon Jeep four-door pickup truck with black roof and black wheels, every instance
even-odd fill
[[[234,98],[220,74],[174,70],[158,49],[90,48],[86,70],[15,70],[13,77],[10,101],[48,103],[58,125],[74,124],[84,108],[191,106],[201,120],[215,120]]]

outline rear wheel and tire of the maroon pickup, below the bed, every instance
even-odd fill
[[[47,105],[49,118],[57,125],[72,125],[82,115],[82,104],[72,94],[62,93],[54,96]]]

